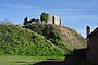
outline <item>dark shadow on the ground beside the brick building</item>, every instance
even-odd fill
[[[47,60],[34,65],[94,65],[86,60],[86,50],[74,50],[64,60]]]

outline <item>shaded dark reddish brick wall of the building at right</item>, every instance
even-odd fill
[[[89,50],[86,52],[87,60],[98,65],[98,32],[89,37]]]

